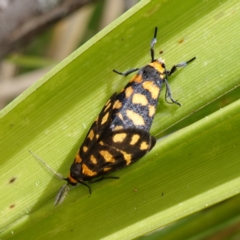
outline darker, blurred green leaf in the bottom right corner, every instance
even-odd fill
[[[178,220],[160,231],[137,238],[154,239],[238,239],[240,195]]]

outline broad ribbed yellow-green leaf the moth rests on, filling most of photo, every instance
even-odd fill
[[[105,180],[72,189],[59,207],[53,179],[30,149],[67,175],[91,123],[125,71],[150,61],[197,59],[171,78],[182,107],[162,94],[151,133],[170,126],[239,85],[238,1],[141,1],[80,47],[0,113],[0,231],[9,239],[131,239],[240,191],[239,98],[161,139],[143,159]],[[158,54],[157,54],[158,55]],[[211,110],[207,112],[210,114]],[[199,120],[199,121],[197,121]]]

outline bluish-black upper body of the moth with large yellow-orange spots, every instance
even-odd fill
[[[161,71],[164,73],[164,68],[161,68]],[[148,65],[141,68],[117,95],[118,104],[114,106],[110,128],[112,130],[139,128],[149,131],[156,113],[162,84],[163,79],[158,70]]]

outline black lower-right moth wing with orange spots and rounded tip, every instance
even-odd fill
[[[156,139],[142,129],[109,130],[87,156],[85,165],[95,173],[94,177],[102,176],[136,162],[155,143]],[[88,172],[83,171],[83,176],[89,177]]]

